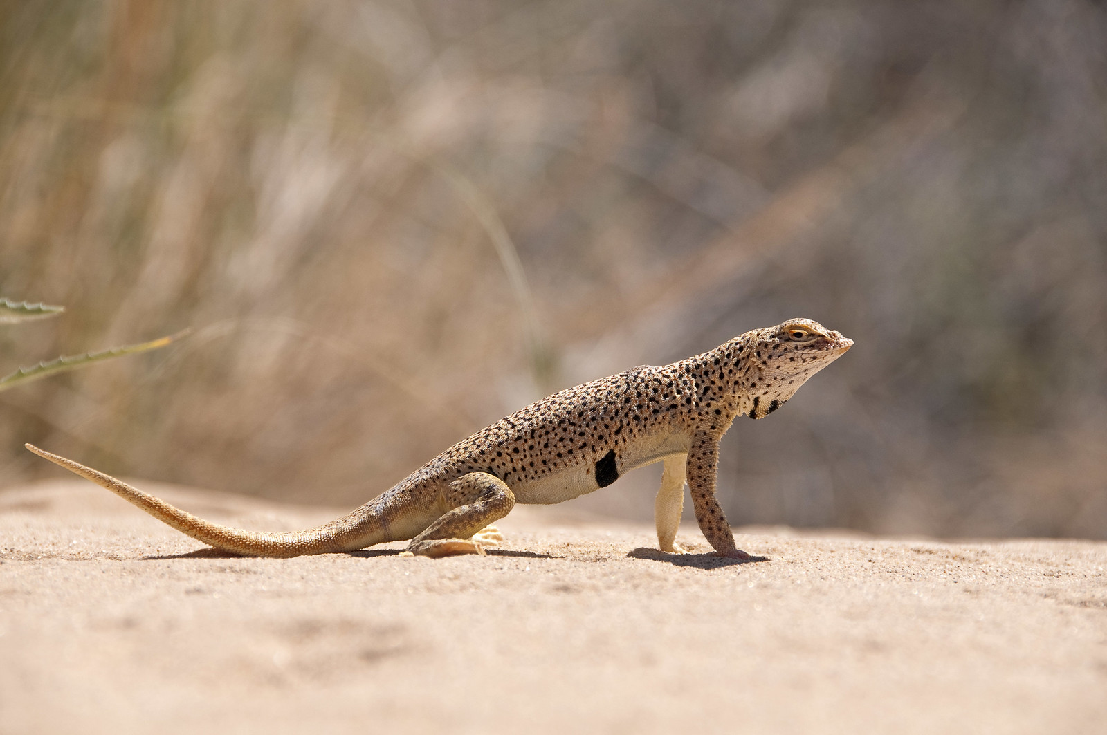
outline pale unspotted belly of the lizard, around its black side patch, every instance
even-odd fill
[[[612,449],[614,453],[615,474],[618,477],[632,469],[652,465],[665,457],[684,454],[689,451],[686,437],[681,435],[661,436],[651,441],[640,441]],[[587,495],[600,489],[596,480],[597,464],[590,462],[527,483],[511,484],[516,503],[554,504]],[[613,480],[612,480],[613,482]],[[610,484],[606,483],[604,487]]]

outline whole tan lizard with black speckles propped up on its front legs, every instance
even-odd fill
[[[715,498],[718,442],[737,416],[764,418],[853,341],[809,319],[755,329],[702,354],[640,365],[532,403],[449,447],[350,514],[302,531],[261,532],[197,518],[111,475],[31,452],[90,479],[173,528],[240,556],[349,552],[410,541],[407,556],[485,553],[516,503],[555,504],[664,463],[654,500],[658,544],[675,542],[687,483],[696,521],[717,556],[737,548]]]

